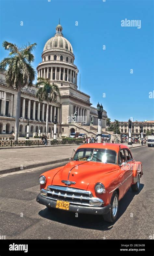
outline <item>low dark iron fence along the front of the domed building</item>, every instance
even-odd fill
[[[66,145],[66,144],[82,144],[82,140],[48,140],[47,145]],[[39,146],[44,145],[41,140],[33,140],[33,141],[14,141],[14,140],[0,140],[0,147],[13,147],[13,146]]]

